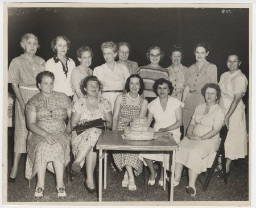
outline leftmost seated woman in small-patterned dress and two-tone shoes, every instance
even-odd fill
[[[53,91],[54,74],[40,72],[36,85],[40,93],[34,95],[26,106],[27,136],[26,178],[38,174],[35,198],[42,198],[46,168],[56,174],[58,198],[65,198],[63,173],[70,160],[70,118],[72,101],[64,93]],[[54,169],[53,169],[54,168]]]

